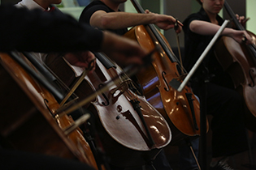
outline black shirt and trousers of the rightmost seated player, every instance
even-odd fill
[[[219,25],[223,19],[217,15]],[[184,20],[184,67],[191,70],[197,59],[201,56],[206,46],[213,36],[202,36],[191,32],[189,24],[193,20],[210,22],[208,15],[203,8],[196,14],[189,15]],[[206,73],[208,70],[208,74]],[[212,130],[212,156],[234,155],[248,148],[243,122],[244,101],[242,97],[233,89],[232,79],[217,62],[214,47],[210,49],[206,58],[197,72],[193,75],[193,92],[201,97],[204,79],[210,78],[206,88],[206,108],[207,113],[213,115],[211,121]]]

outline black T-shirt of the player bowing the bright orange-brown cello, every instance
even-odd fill
[[[110,7],[106,6],[105,3],[101,2],[101,1],[93,1],[88,6],[85,7],[84,11],[82,11],[82,13],[80,15],[79,22],[89,24],[89,20],[90,20],[91,16],[96,11],[106,11],[107,13],[115,12]],[[128,29],[127,28],[115,29],[115,30],[109,29],[108,31],[114,32],[115,34],[118,34],[119,36],[123,36],[126,32],[128,32]]]

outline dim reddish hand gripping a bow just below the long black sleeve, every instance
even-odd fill
[[[80,66],[85,67],[85,69],[90,69],[89,73],[95,70],[95,56],[90,51],[66,53],[64,57],[67,60],[67,62],[69,62],[73,66]]]

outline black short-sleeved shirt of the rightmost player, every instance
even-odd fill
[[[223,19],[219,15],[217,15],[216,19],[218,20],[219,25],[222,25]],[[187,19],[184,20],[184,67],[188,71],[193,68],[197,59],[201,56],[207,45],[209,45],[210,40],[214,37],[202,36],[192,32],[189,29],[189,24],[193,20],[202,20],[210,23],[210,19],[203,8],[197,13],[189,15]],[[209,74],[215,74],[215,76],[223,74],[223,70],[215,58],[214,49],[214,46],[210,49],[194,76],[202,74],[202,70],[205,67],[209,70]]]

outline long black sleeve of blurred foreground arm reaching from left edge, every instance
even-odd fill
[[[70,15],[0,6],[0,51],[40,53],[97,50],[102,32]]]

